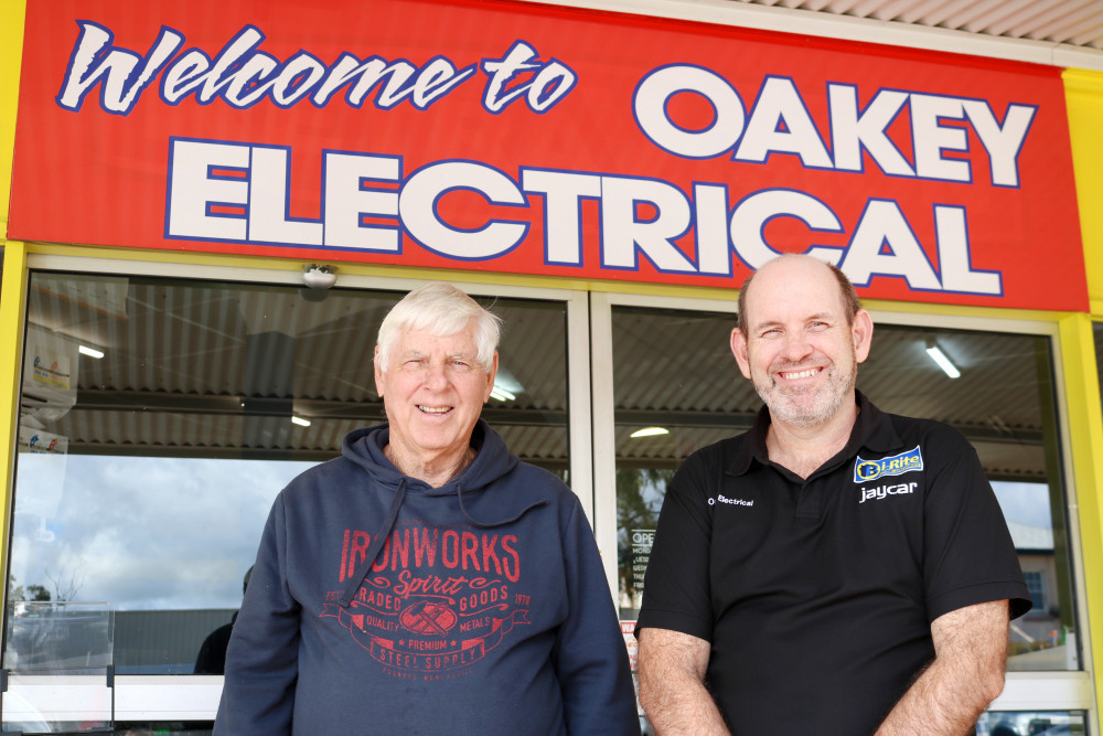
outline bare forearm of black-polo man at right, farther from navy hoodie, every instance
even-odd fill
[[[966,606],[931,623],[934,660],[889,713],[876,736],[972,734],[1004,690],[1006,600]]]

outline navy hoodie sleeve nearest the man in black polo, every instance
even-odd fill
[[[593,533],[577,500],[563,533],[563,555],[570,614],[556,633],[554,661],[567,733],[638,736],[628,649]]]

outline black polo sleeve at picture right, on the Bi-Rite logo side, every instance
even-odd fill
[[[1003,511],[976,450],[956,433],[933,456],[936,470],[924,501],[923,578],[928,617],[992,600],[1010,600],[1011,618],[1031,599]]]

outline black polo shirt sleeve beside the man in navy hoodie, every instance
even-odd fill
[[[674,474],[663,499],[644,575],[636,633],[654,627],[713,640],[709,583],[713,513],[708,501],[709,490],[721,473],[719,461],[708,463],[697,454]]]

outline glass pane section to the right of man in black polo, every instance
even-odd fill
[[[929,358],[931,345],[960,377]],[[858,387],[886,412],[955,427],[976,448],[1019,564],[1045,599],[1011,622],[1007,669],[1080,669],[1049,339],[878,326]]]

